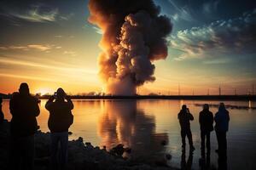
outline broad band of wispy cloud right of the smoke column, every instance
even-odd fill
[[[217,20],[208,26],[177,31],[171,47],[182,52],[176,59],[207,57],[212,54],[255,53],[256,11],[230,20]],[[225,61],[226,62],[226,61]]]

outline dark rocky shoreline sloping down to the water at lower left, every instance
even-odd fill
[[[0,125],[0,169],[8,169],[9,160],[9,122],[5,121]],[[35,134],[35,169],[49,169],[50,153],[49,133],[38,131]],[[172,170],[162,162],[153,161],[150,163],[139,162],[129,158],[122,157],[124,151],[130,152],[131,149],[125,149],[121,144],[112,150],[99,148],[90,143],[84,143],[79,139],[68,141],[68,164],[70,170]],[[168,159],[168,156],[166,156]]]

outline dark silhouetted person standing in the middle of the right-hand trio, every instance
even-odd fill
[[[205,104],[203,110],[199,114],[199,123],[201,129],[201,150],[205,150],[205,138],[207,136],[207,151],[211,150],[211,132],[213,130],[213,115],[209,111],[209,105]]]

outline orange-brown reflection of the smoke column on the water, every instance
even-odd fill
[[[132,157],[153,159],[164,149],[167,133],[155,132],[154,116],[146,115],[137,108],[136,100],[108,101],[98,121],[101,145],[111,148],[116,144],[131,147]],[[150,150],[148,150],[150,149]]]

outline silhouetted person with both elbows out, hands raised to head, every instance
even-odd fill
[[[67,101],[65,101],[67,99]],[[55,101],[54,101],[55,100]],[[67,165],[68,128],[73,124],[73,102],[62,88],[47,101],[49,111],[48,127],[51,138],[51,165],[53,169],[65,169]],[[58,145],[61,144],[61,158],[58,159]]]

